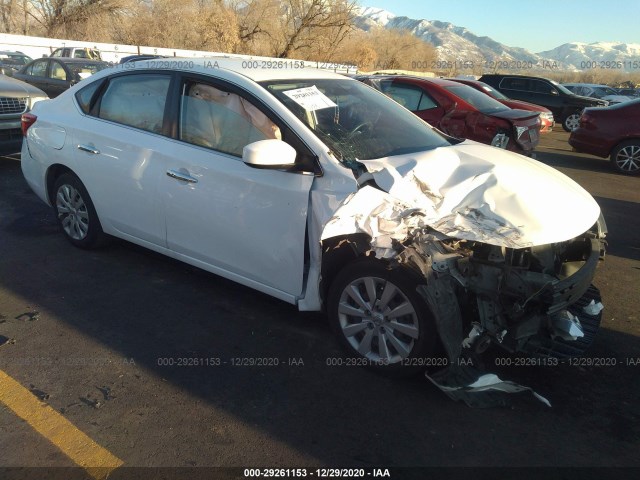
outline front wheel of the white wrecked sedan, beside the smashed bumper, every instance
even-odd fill
[[[391,376],[419,373],[436,346],[436,329],[417,293],[420,277],[371,258],[342,270],[329,292],[328,315],[342,346],[357,360]]]

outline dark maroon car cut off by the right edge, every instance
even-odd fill
[[[578,152],[611,157],[620,173],[640,175],[640,99],[585,108],[569,145]]]

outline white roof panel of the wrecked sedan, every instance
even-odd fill
[[[229,70],[245,77],[250,78],[255,82],[262,82],[265,80],[288,80],[288,79],[346,79],[344,75],[322,70],[320,68],[314,68],[311,66],[305,66],[304,68],[291,68],[292,65],[296,65],[295,62],[301,62],[301,60],[290,59],[262,59],[262,58],[238,58],[238,57],[202,57],[202,58],[179,58],[169,57],[153,60],[140,60],[136,62],[136,70],[144,68],[154,70],[179,70],[201,73],[207,75],[211,73],[212,69],[220,68],[223,70]],[[313,64],[313,62],[306,62],[307,64]],[[282,68],[279,68],[281,65]],[[266,67],[266,68],[261,68]],[[106,71],[111,71],[110,69]]]

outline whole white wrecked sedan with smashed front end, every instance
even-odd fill
[[[324,309],[390,373],[591,343],[606,229],[586,191],[358,81],[256,63],[136,62],[24,115],[24,176],[69,241],[119,237]]]

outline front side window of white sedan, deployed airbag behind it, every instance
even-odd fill
[[[180,100],[180,140],[242,156],[245,145],[282,139],[278,126],[247,99],[212,85],[188,82]]]

